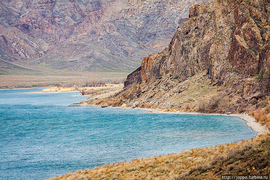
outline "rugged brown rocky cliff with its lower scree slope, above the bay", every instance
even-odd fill
[[[269,18],[267,0],[192,6],[168,48],[143,58],[137,73],[142,83],[127,86],[115,98],[132,107],[200,110],[207,101],[202,99],[218,94],[226,104],[215,109],[219,112],[261,107],[270,88]]]

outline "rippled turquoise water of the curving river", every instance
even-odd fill
[[[0,91],[0,179],[45,179],[73,170],[247,140],[228,116],[67,107],[86,97],[41,89]]]

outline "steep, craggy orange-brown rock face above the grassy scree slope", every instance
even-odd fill
[[[208,69],[209,78],[227,84],[240,73],[247,78],[262,71],[261,91],[269,93],[268,1],[217,1],[192,6],[168,48],[142,60],[143,83],[166,74],[180,79]],[[234,75],[232,75],[234,74]],[[248,94],[248,93],[247,93]]]

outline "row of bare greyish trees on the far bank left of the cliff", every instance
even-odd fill
[[[91,78],[85,81],[72,81],[72,82],[59,82],[55,86],[58,88],[71,88],[71,87],[95,87],[104,84],[120,84],[124,83],[125,78],[115,78],[115,79],[95,79]]]

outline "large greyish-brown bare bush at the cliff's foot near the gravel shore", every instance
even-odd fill
[[[226,112],[229,107],[229,97],[226,92],[218,92],[208,99],[203,99],[198,103],[199,111],[206,113]]]

